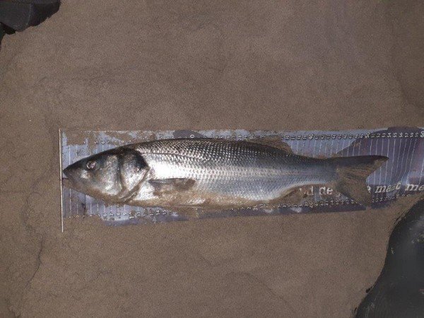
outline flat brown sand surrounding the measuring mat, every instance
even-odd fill
[[[349,317],[389,208],[60,232],[59,128],[423,125],[422,1],[65,0],[0,51],[0,317]]]

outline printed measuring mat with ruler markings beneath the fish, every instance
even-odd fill
[[[424,129],[388,128],[348,131],[59,131],[61,178],[62,170],[89,155],[129,143],[157,139],[226,139],[254,141],[264,136],[279,136],[295,155],[312,158],[384,155],[389,158],[367,177],[367,189],[372,194],[372,208],[389,204],[399,196],[424,192]],[[365,209],[324,184],[300,188],[305,195],[297,203],[282,201],[273,206],[246,206],[228,211],[197,211],[199,218],[228,216],[259,216],[288,213],[322,213]],[[187,220],[178,211],[164,208],[142,208],[110,205],[61,184],[62,230],[64,220],[73,217],[98,217],[109,225],[163,223]]]

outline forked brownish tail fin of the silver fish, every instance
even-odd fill
[[[367,190],[365,180],[387,161],[383,155],[359,155],[356,157],[329,158],[336,165],[336,180],[331,184],[334,190],[363,204],[371,204],[372,194]]]

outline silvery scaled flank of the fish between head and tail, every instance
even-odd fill
[[[194,179],[200,192],[253,201],[277,199],[294,186],[329,182],[333,174],[324,160],[259,143],[182,139],[135,149],[153,170],[152,179]]]

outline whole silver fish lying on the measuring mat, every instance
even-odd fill
[[[112,204],[174,211],[225,210],[301,200],[326,184],[369,205],[365,179],[388,158],[296,155],[281,138],[163,139],[112,148],[64,169],[68,187]]]

